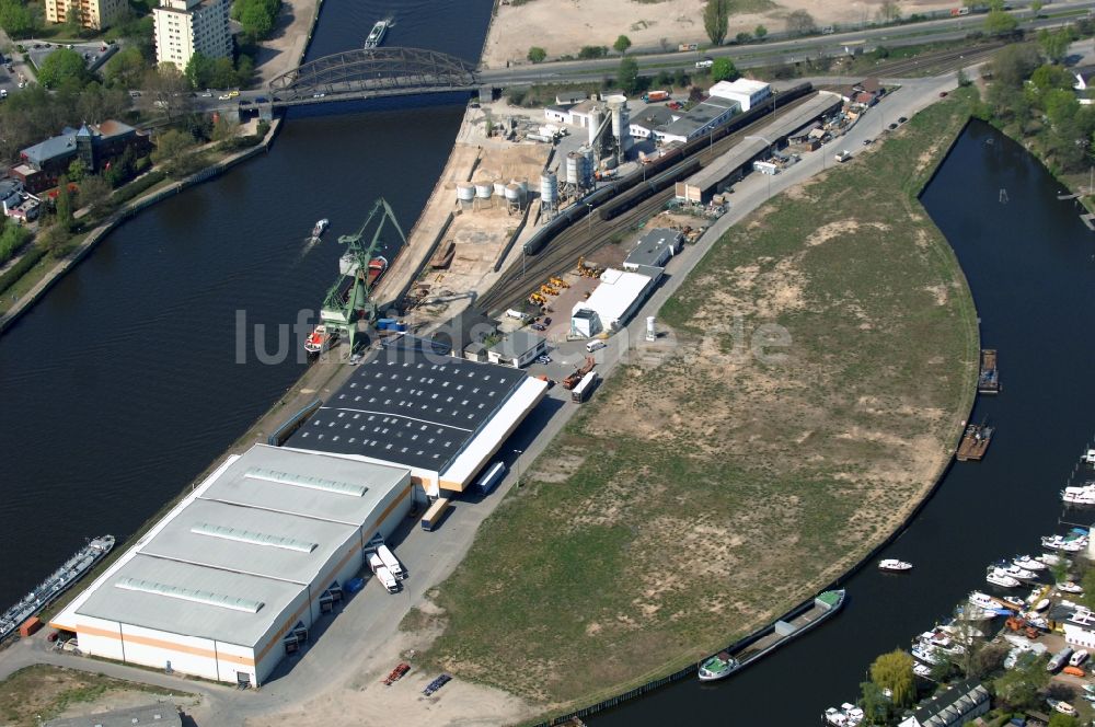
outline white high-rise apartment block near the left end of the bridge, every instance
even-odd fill
[[[232,55],[228,0],[160,0],[152,10],[155,59],[186,68],[195,53],[207,58]]]

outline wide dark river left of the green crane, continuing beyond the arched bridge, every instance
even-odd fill
[[[489,14],[489,0],[328,0],[309,57],[360,47],[393,15],[385,45],[475,62]],[[319,309],[337,236],[378,196],[410,231],[464,102],[295,113],[268,154],[127,222],[0,337],[0,610],[84,538],[131,534],[300,377],[301,342],[263,364],[255,324],[273,354],[279,325]],[[304,252],[321,217],[332,227]]]

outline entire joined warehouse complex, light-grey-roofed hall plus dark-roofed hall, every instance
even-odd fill
[[[263,684],[370,545],[463,491],[545,391],[419,339],[381,347],[286,446],[230,457],[49,623],[90,656]]]

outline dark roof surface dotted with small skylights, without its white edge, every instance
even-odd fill
[[[384,349],[287,445],[440,472],[525,378],[505,366]]]

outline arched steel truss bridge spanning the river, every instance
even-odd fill
[[[316,58],[267,85],[274,106],[479,88],[475,68],[465,60],[436,50],[383,47]]]

